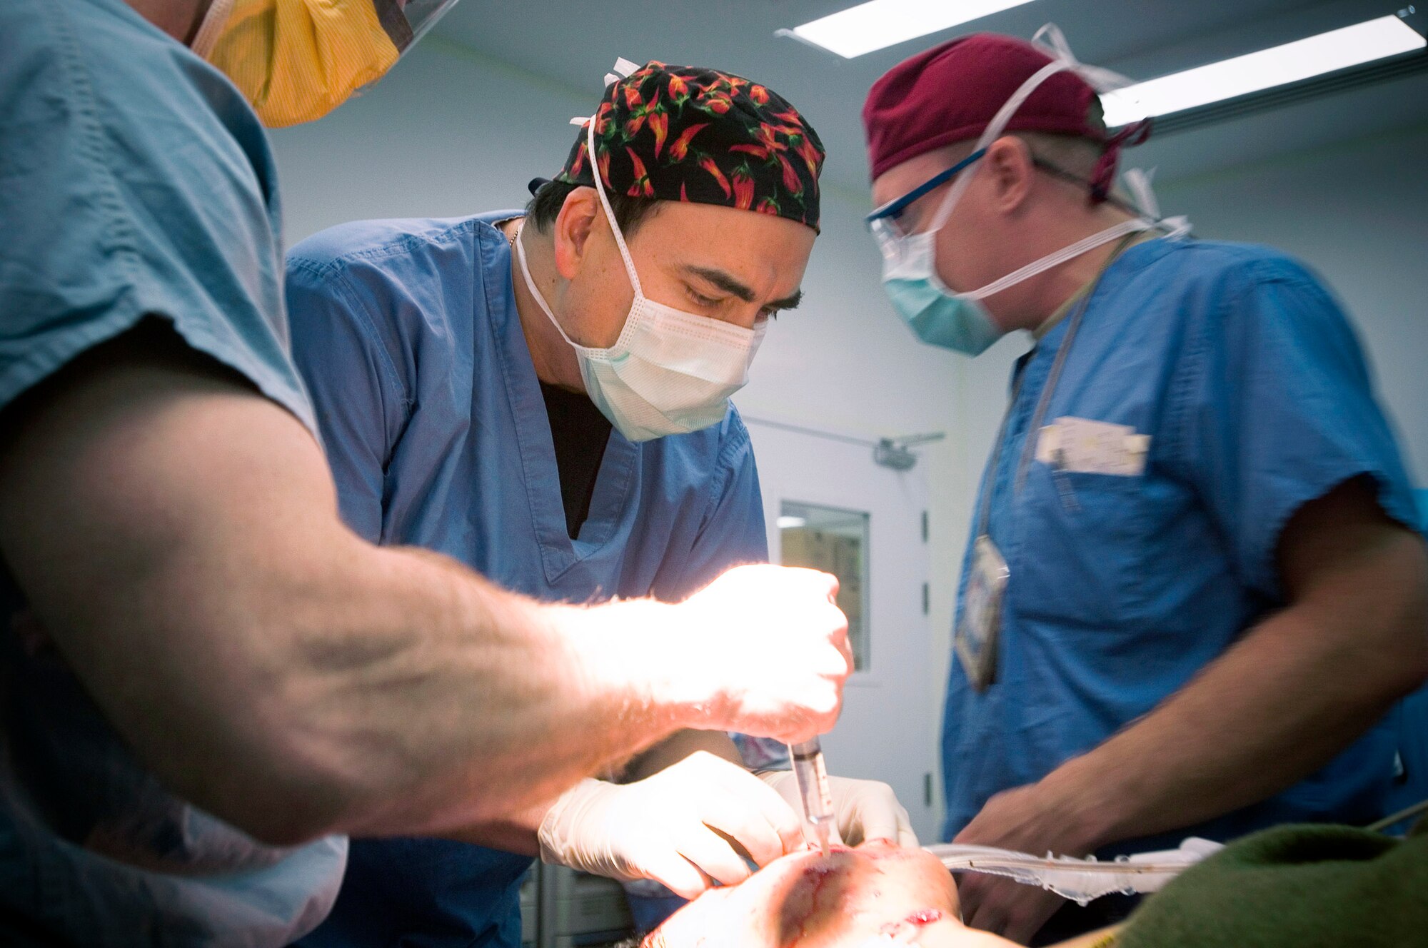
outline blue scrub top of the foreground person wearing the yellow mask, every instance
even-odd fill
[[[0,3],[0,405],[146,316],[313,427],[237,89],[121,0]],[[0,568],[0,944],[283,945],[346,841],[258,845],[129,752]]]

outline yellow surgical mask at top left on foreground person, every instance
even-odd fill
[[[213,0],[193,50],[277,128],[321,118],[381,79],[454,3]]]

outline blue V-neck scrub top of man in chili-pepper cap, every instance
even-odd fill
[[[733,410],[654,441],[611,431],[570,538],[510,244],[491,226],[517,213],[358,221],[288,253],[294,358],[344,520],[547,601],[681,600],[730,565],[767,561],[754,455]],[[406,935],[514,948],[528,864],[460,842],[354,842],[333,917],[303,944]]]

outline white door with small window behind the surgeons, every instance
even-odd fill
[[[838,604],[850,618],[858,668],[838,725],[823,737],[828,772],[891,784],[918,839],[934,842],[940,690],[927,615],[925,465],[897,471],[874,463],[870,441],[744,421],[770,557],[843,578]]]

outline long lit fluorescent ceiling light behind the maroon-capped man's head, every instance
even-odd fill
[[[1187,69],[1101,96],[1105,124],[1124,126],[1222,99],[1297,83],[1387,56],[1421,50],[1424,37],[1397,16],[1329,30],[1208,66]]]

